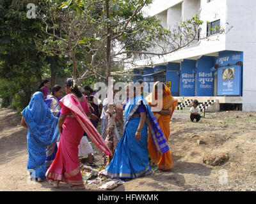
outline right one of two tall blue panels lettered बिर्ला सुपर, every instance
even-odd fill
[[[214,57],[202,56],[197,61],[196,69],[196,96],[213,96],[214,74],[211,68],[214,66]]]

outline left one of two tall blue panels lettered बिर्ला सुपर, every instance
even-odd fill
[[[195,96],[195,66],[195,60],[184,59],[181,62],[180,96]]]

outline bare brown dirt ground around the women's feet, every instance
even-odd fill
[[[256,112],[206,113],[196,123],[190,122],[188,112],[175,111],[170,128],[173,170],[153,168],[151,175],[125,180],[111,191],[255,191]],[[2,108],[0,191],[70,191],[64,183],[59,189],[47,181],[28,184],[26,135],[20,114]],[[99,167],[102,153],[93,150]],[[81,191],[99,191],[101,185],[86,185]]]

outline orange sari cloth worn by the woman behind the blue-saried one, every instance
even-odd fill
[[[156,85],[158,82],[156,82],[153,86],[152,93],[150,93],[146,100],[148,102],[148,105],[150,107],[157,106],[156,99],[153,98],[154,92],[156,89]],[[163,96],[163,110],[170,110],[173,114],[175,107],[177,105],[177,100],[175,100],[172,97],[170,89],[166,85],[164,85],[164,96]],[[157,112],[153,112],[154,116],[157,119],[157,122],[161,128],[161,130],[164,133],[164,136],[166,140],[168,141],[169,135],[170,135],[170,120],[172,118],[172,115],[161,115]],[[172,161],[172,154],[169,151],[166,151],[164,154],[159,154],[157,151],[155,145],[154,145],[154,138],[150,134],[150,131],[148,131],[148,152],[150,159],[152,163],[157,164],[157,168],[161,170],[170,170],[173,168],[173,161]]]

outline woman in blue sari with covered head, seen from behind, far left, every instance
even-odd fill
[[[33,94],[29,105],[21,113],[21,125],[28,128],[27,168],[31,177],[35,177],[40,182],[45,179],[47,145],[56,142],[59,134],[58,118],[52,115],[40,91]]]

